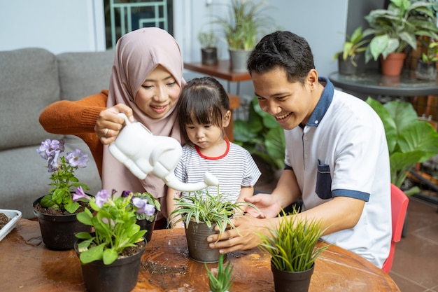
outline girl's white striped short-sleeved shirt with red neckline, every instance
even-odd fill
[[[216,176],[219,180],[219,193],[224,194],[223,200],[233,203],[239,197],[241,186],[254,186],[261,174],[250,153],[229,141],[227,151],[219,157],[202,155],[192,143],[183,146],[183,155],[175,168],[175,176],[184,183],[197,183],[204,181],[205,172]],[[206,190],[210,195],[218,194],[217,186]]]

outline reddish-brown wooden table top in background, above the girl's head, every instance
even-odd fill
[[[184,69],[232,82],[251,80],[251,76],[248,72],[241,73],[232,71],[229,60],[220,60],[216,65],[204,65],[201,62],[184,63]]]

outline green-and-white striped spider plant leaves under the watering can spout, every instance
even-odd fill
[[[169,215],[169,221],[174,223],[183,221],[185,228],[188,228],[190,221],[204,222],[209,227],[214,223],[218,227],[219,234],[222,235],[227,226],[235,228],[231,219],[236,211],[243,213],[243,206],[257,209],[249,202],[232,203],[224,200],[224,195],[219,193],[218,187],[218,195],[211,195],[207,189],[204,189],[175,198],[175,209]],[[237,232],[239,233],[239,230]]]

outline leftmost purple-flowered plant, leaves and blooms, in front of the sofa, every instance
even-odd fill
[[[64,141],[56,139],[45,139],[36,152],[47,161],[48,172],[51,173],[49,186],[52,188],[49,189],[48,195],[41,199],[41,206],[73,214],[80,207],[78,202],[73,202],[73,188],[80,186],[85,190],[90,189],[85,183],[80,183],[74,175],[78,168],[87,167],[88,155],[76,148],[75,151],[62,156]]]

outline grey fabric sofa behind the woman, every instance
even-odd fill
[[[77,100],[108,89],[114,52],[62,53],[41,48],[0,52],[0,209],[17,209],[34,218],[32,203],[48,193],[50,174],[36,149],[47,138],[64,139],[67,153],[80,148],[89,164],[76,172],[90,186],[101,187],[96,164],[78,137],[48,134],[38,122],[46,106]]]

